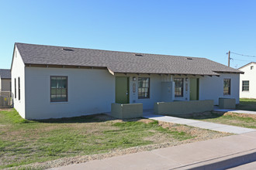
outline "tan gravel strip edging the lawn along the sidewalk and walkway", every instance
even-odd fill
[[[150,121],[148,121],[150,122]],[[140,151],[151,151],[157,148],[167,148],[172,147],[176,145],[182,145],[186,143],[192,143],[195,141],[205,141],[208,139],[213,138],[221,138],[227,135],[230,135],[228,133],[220,133],[216,131],[208,131],[208,130],[202,130],[200,128],[192,128],[188,126],[181,126],[179,124],[171,124],[166,122],[159,122],[159,124],[163,128],[175,128],[177,131],[187,131],[189,134],[196,135],[196,138],[188,139],[185,141],[168,141],[161,144],[155,144],[155,145],[146,145],[146,146],[140,146],[140,147],[133,147],[133,148],[126,148],[126,149],[116,149],[112,150],[108,153],[104,154],[96,154],[96,155],[81,155],[81,156],[75,156],[71,158],[60,158],[56,159],[54,161],[48,161],[48,162],[42,162],[42,163],[33,163],[30,165],[22,165],[15,168],[9,168],[9,169],[47,169],[47,168],[56,168],[60,166],[65,165],[71,165],[71,164],[78,164],[82,162],[88,162],[96,159],[103,159],[103,158],[110,158],[113,156],[118,155],[126,155],[126,154],[133,154]],[[206,132],[207,131],[207,132]]]

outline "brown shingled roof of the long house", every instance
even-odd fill
[[[113,73],[167,73],[219,75],[243,73],[206,58],[127,53],[64,46],[16,43],[25,64],[64,66],[102,66]]]

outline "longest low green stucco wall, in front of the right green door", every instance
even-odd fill
[[[192,114],[213,110],[213,100],[193,100],[157,102],[154,104],[155,114]]]

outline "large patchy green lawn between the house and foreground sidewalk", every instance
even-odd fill
[[[225,135],[229,134],[147,119],[121,121],[104,114],[26,121],[14,109],[0,110],[0,168]]]

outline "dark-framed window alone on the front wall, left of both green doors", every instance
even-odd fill
[[[50,76],[50,101],[67,101],[67,76]]]

